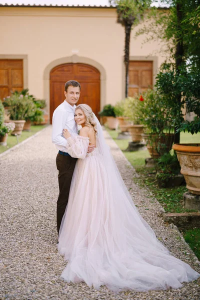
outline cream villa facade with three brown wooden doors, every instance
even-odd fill
[[[48,120],[64,99],[64,83],[81,83],[79,103],[97,114],[124,98],[124,28],[114,7],[0,6],[0,98],[28,88],[46,100]],[[139,26],[139,25],[138,25]],[[156,41],[130,38],[128,94],[155,83],[165,57]]]

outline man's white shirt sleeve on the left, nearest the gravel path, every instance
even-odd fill
[[[66,119],[66,111],[56,110],[52,118],[52,143],[59,146],[67,146],[67,140],[62,136]]]

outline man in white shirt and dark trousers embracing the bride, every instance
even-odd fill
[[[77,133],[77,124],[74,121],[75,104],[80,96],[80,83],[69,80],[64,85],[65,100],[57,106],[52,117],[52,142],[58,149],[56,167],[58,169],[59,195],[57,199],[57,232],[59,232],[62,216],[64,214],[77,158],[71,157],[66,150],[67,140],[62,136],[62,130]],[[94,145],[88,146],[88,152]]]

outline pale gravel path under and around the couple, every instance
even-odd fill
[[[50,136],[48,126],[0,155],[0,299],[199,300],[200,280],[178,289],[114,294],[105,287],[95,290],[59,279],[65,262],[56,248],[57,151]],[[106,132],[105,136],[141,215],[174,256],[200,271],[176,229],[163,223],[160,204],[132,182],[134,169]]]

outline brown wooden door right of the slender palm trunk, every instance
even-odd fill
[[[133,96],[135,93],[141,93],[147,88],[152,88],[152,61],[137,61],[129,62],[128,73],[128,96]]]

